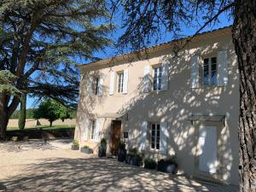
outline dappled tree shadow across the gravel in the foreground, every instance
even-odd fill
[[[115,160],[45,159],[28,166],[23,175],[9,178],[0,191],[232,191],[231,186],[209,185],[127,166]]]

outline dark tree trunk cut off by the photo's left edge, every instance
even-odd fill
[[[6,129],[8,125],[8,113],[6,108],[6,95],[0,94],[0,139],[6,136]]]

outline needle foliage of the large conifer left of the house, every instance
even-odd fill
[[[112,44],[108,19],[102,0],[0,1],[0,93],[76,103],[78,60]]]

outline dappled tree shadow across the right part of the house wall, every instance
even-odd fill
[[[190,87],[190,67],[188,63],[191,63],[192,56],[209,55],[214,51],[217,52],[217,50],[218,44],[213,44],[212,46],[195,49],[193,53],[183,50],[180,53],[183,56],[180,57],[163,56],[162,60],[170,63],[168,90],[143,93],[143,78],[145,77],[140,78],[140,84],[131,93],[133,98],[119,110],[119,113],[136,114],[129,115],[128,124],[125,124],[125,130],[131,133],[129,147],[139,148],[140,127],[143,121],[167,122],[169,128],[167,154],[177,154],[178,164],[182,165],[185,170],[193,170],[191,166],[195,167],[196,160],[200,156],[197,145],[199,130],[198,127],[192,125],[186,119],[192,114],[221,114],[225,115],[230,124],[220,127],[218,135],[218,151],[222,154],[218,157],[218,167],[221,168],[221,172],[218,173],[224,180],[230,178],[231,174],[238,174],[235,168],[238,167],[238,146],[234,142],[236,141],[234,138],[237,138],[237,122],[230,122],[230,113],[233,111],[238,113],[239,111],[237,103],[234,103],[233,100],[233,98],[237,98],[237,101],[239,99],[236,62],[230,63],[229,84],[227,87],[203,87],[202,84],[201,88],[198,89],[191,89]],[[234,51],[229,51],[230,55],[235,55]],[[151,56],[154,58],[160,55]],[[202,75],[201,72],[200,75]],[[236,117],[233,116],[232,119],[236,119]],[[150,132],[148,131],[148,133]],[[147,154],[152,157],[158,155],[160,158],[166,156],[152,153],[149,144]],[[237,160],[235,161],[234,159]],[[234,162],[236,162],[236,165],[234,165]],[[193,172],[195,170],[190,173]]]

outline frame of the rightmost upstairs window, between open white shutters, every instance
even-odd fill
[[[215,63],[212,62],[212,59],[215,58]],[[205,65],[205,60],[208,60],[207,65]],[[203,86],[208,86],[208,87],[214,87],[214,86],[218,86],[218,81],[217,81],[217,76],[218,76],[218,57],[216,55],[211,55],[211,56],[207,56],[204,57],[203,60],[203,65],[202,65],[202,84]],[[215,65],[215,70],[212,70],[212,66]],[[207,84],[205,83],[205,66],[208,67],[207,73],[208,73],[208,77],[207,77]],[[215,79],[215,83],[212,83],[212,73],[216,74],[216,79]]]

